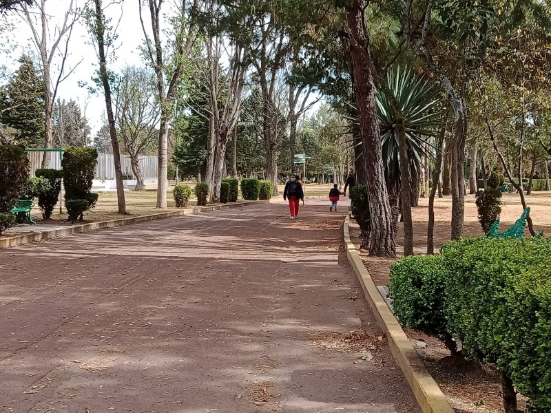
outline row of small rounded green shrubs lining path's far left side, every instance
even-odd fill
[[[273,195],[273,183],[271,181],[258,179],[241,180],[241,192],[244,200],[269,200]],[[228,178],[222,180],[220,184],[220,202],[237,202],[239,193],[239,180]],[[209,195],[208,184],[202,182],[195,187],[198,205],[206,205]],[[187,185],[176,185],[173,191],[174,202],[176,207],[185,208],[191,197],[191,187]]]

